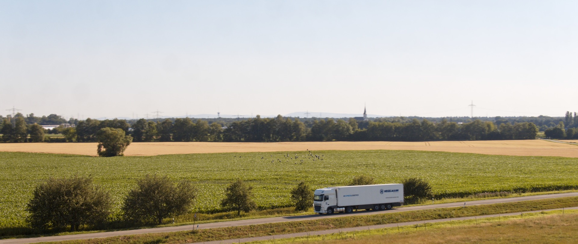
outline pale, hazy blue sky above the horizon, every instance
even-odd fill
[[[0,114],[446,117],[473,102],[474,116],[564,116],[578,112],[577,9],[0,0]]]

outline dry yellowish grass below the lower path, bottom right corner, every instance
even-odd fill
[[[578,212],[560,210],[524,213],[442,223],[425,223],[370,231],[316,235],[275,241],[244,242],[253,244],[283,243],[575,243],[578,239]]]

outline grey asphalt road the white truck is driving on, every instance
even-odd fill
[[[499,204],[503,202],[518,202],[518,201],[528,201],[537,199],[548,199],[548,198],[560,198],[560,197],[578,197],[578,193],[559,193],[559,194],[548,194],[548,195],[532,195],[527,197],[512,197],[512,198],[497,198],[497,199],[487,199],[487,200],[477,200],[477,201],[467,201],[466,206],[474,205],[484,205],[484,204]],[[302,216],[288,216],[288,217],[273,217],[265,219],[250,219],[250,220],[236,220],[236,221],[226,221],[218,223],[209,224],[199,224],[199,230],[209,229],[209,228],[222,228],[240,225],[251,225],[251,224],[266,224],[266,223],[278,223],[278,222],[288,222],[288,221],[299,221],[299,220],[313,220],[313,219],[327,219],[335,217],[344,217],[351,215],[378,215],[380,213],[394,213],[394,212],[405,212],[413,210],[424,210],[424,209],[436,209],[436,208],[453,208],[464,206],[464,202],[454,202],[451,204],[433,204],[424,206],[411,206],[405,208],[395,208],[391,210],[383,211],[359,211],[353,213],[335,213],[333,215],[302,215]],[[150,234],[150,233],[162,233],[162,232],[175,232],[175,231],[190,231],[193,228],[197,228],[196,225],[181,225],[175,227],[162,227],[162,228],[149,228],[140,230],[127,230],[127,231],[110,231],[110,232],[98,232],[91,234],[78,234],[78,235],[61,235],[61,236],[42,236],[35,238],[21,238],[21,239],[5,239],[0,240],[0,244],[24,244],[24,243],[35,243],[35,242],[58,242],[58,241],[69,241],[77,239],[90,239],[90,238],[104,238],[111,236],[122,236],[122,235],[139,235],[139,234]]]

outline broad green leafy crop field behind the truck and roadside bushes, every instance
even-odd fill
[[[578,158],[390,150],[312,151],[312,155],[319,157],[304,151],[113,158],[0,152],[0,226],[23,225],[32,190],[50,176],[91,175],[112,192],[117,204],[135,179],[147,173],[192,180],[199,188],[195,205],[199,212],[220,210],[223,191],[236,178],[253,184],[260,208],[291,205],[289,191],[301,180],[321,188],[347,184],[361,174],[375,177],[377,183],[425,178],[440,197],[578,188]]]

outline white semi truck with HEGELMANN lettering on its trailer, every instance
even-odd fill
[[[403,205],[403,184],[368,184],[338,186],[315,190],[313,208],[316,213],[351,213],[353,210],[385,210]]]

